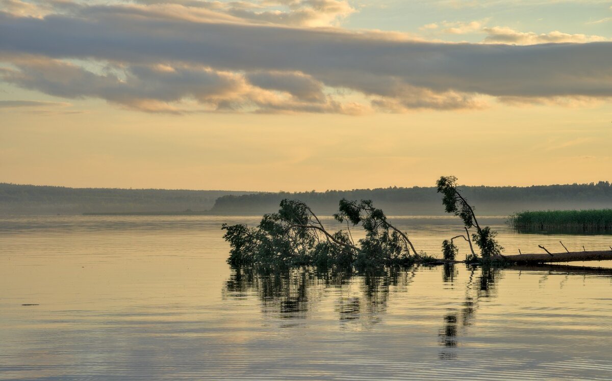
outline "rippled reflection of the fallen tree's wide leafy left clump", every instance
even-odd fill
[[[400,268],[354,273],[346,268],[235,267],[226,281],[223,297],[255,294],[264,314],[303,319],[327,295],[341,322],[376,323],[379,315],[386,312],[389,287],[407,286],[414,274]]]

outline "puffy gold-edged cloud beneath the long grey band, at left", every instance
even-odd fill
[[[299,73],[241,73],[193,65],[127,65],[122,75],[94,73],[46,57],[13,56],[18,69],[3,68],[0,78],[26,89],[65,98],[102,98],[151,113],[244,111],[360,114],[367,108],[343,105],[322,92],[320,83]],[[115,71],[116,71],[115,70]],[[253,85],[256,84],[257,86]],[[190,100],[192,102],[182,102]],[[194,103],[190,107],[179,103]]]

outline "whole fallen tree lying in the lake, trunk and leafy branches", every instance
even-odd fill
[[[334,219],[346,224],[346,229],[332,232],[305,202],[283,199],[278,212],[264,214],[257,227],[223,224],[223,238],[230,243],[228,263],[234,266],[338,265],[353,266],[359,270],[417,263],[533,264],[612,259],[612,247],[603,251],[550,253],[540,246],[545,253],[505,256],[502,254],[504,248],[496,240],[497,232],[488,226],[480,226],[474,207],[458,189],[457,178],[442,176],[436,186],[438,193],[442,194],[444,209],[463,221],[466,232],[442,242],[441,259],[418,251],[409,239],[409,233],[394,226],[371,200],[341,199]],[[361,235],[365,234],[365,237],[355,240],[355,229],[362,229]],[[468,242],[470,253],[466,261],[455,260],[458,253],[455,239]],[[479,249],[479,254],[474,251],[474,246]]]

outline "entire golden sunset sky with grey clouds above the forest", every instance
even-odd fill
[[[0,182],[612,180],[612,1],[0,0]]]

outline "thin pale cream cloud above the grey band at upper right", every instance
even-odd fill
[[[485,42],[488,43],[515,43],[517,45],[534,45],[538,43],[561,43],[561,42],[597,42],[608,41],[606,37],[599,35],[568,34],[559,31],[549,33],[518,32],[507,27],[494,26],[492,28],[482,28],[487,33]]]

